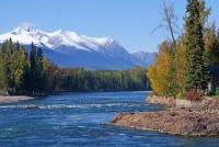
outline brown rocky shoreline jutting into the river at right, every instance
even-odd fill
[[[198,102],[150,95],[150,104],[164,104],[159,112],[122,113],[110,123],[115,126],[131,127],[186,136],[219,137],[219,100],[205,98]]]

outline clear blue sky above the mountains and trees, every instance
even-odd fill
[[[127,50],[157,52],[169,37],[164,29],[153,33],[162,20],[164,0],[1,0],[0,34],[16,26],[34,26],[47,32],[73,31],[80,35],[112,37]],[[209,22],[219,26],[219,0],[206,0]],[[186,0],[165,0],[183,30]]]

